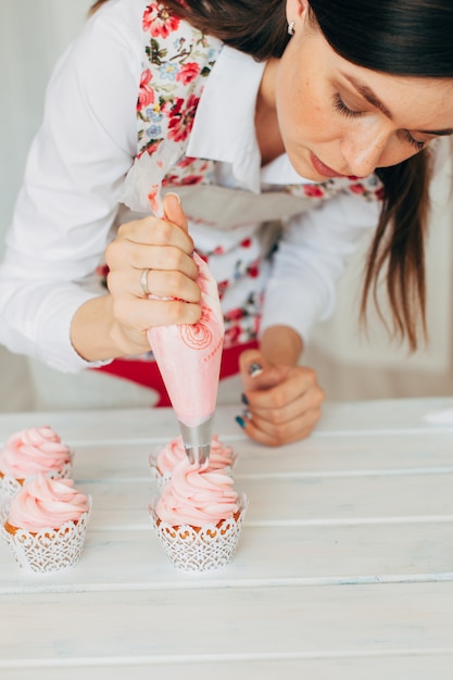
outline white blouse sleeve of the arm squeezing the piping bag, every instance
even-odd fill
[[[56,65],[0,266],[0,342],[64,372],[98,365],[70,327],[102,294],[88,282],[136,152],[142,4],[104,5]]]

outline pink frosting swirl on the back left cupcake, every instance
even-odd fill
[[[68,446],[49,426],[12,435],[0,452],[0,470],[15,479],[61,470],[71,461]]]

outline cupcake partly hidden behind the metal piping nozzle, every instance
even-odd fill
[[[165,446],[159,449],[156,453],[150,454],[149,464],[151,474],[160,489],[162,489],[172,477],[175,465],[186,458],[187,454],[181,437],[176,437]],[[225,469],[225,471],[230,475],[236,458],[237,454],[231,446],[223,444],[217,435],[214,435],[211,442],[211,454],[206,471],[211,473],[213,470]]]

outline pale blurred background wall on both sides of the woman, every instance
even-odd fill
[[[91,0],[0,0],[0,254],[29,142],[42,113],[46,83],[58,56],[78,33]],[[357,333],[357,255],[339,287],[334,318],[318,327],[304,361],[318,372],[330,399],[451,394],[451,177],[437,182],[428,259],[431,344],[407,358],[388,342],[376,319],[372,343]],[[1,323],[1,322],[0,322]],[[30,408],[27,365],[0,348],[0,410]]]

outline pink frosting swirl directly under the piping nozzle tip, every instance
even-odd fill
[[[232,517],[238,509],[231,477],[222,469],[203,470],[187,457],[175,466],[155,506],[158,517],[174,527],[217,524]]]

